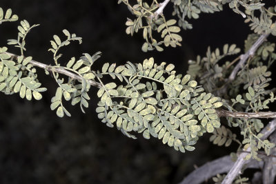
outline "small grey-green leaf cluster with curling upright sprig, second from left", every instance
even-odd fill
[[[50,41],[52,48],[49,51],[53,53],[53,59],[55,61],[55,66],[52,66],[52,68],[62,68],[63,70],[74,72],[81,78],[81,81],[70,78],[65,83],[64,79],[59,77],[58,72],[52,72],[59,88],[57,88],[55,96],[52,97],[50,108],[51,110],[57,109],[57,116],[59,117],[63,117],[64,114],[71,116],[70,112],[63,106],[62,99],[66,101],[71,100],[72,105],[80,103],[81,111],[85,113],[83,108],[88,108],[88,100],[90,100],[88,95],[88,91],[90,90],[89,80],[95,78],[95,72],[91,70],[91,66],[101,55],[101,52],[97,52],[93,56],[85,53],[78,61],[76,61],[75,57],[72,57],[66,64],[66,67],[61,67],[58,63],[58,59],[62,56],[62,54],[57,54],[59,49],[69,45],[71,41],[79,41],[79,44],[81,44],[81,37],[77,37],[76,34],[70,34],[68,30],[63,30],[63,34],[67,37],[65,41],[61,41],[57,35],[54,35],[54,40]],[[48,73],[46,70],[46,74]]]

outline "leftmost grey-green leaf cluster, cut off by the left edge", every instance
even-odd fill
[[[2,16],[1,16],[2,14]],[[4,21],[16,21],[17,15],[11,17],[12,10],[8,9],[6,12]],[[0,8],[0,17],[3,18],[3,10]],[[11,18],[10,18],[11,17]],[[41,92],[45,92],[46,88],[40,88],[41,83],[37,79],[37,70],[33,67],[32,57],[23,57],[23,50],[26,42],[25,38],[30,29],[37,25],[32,25],[28,21],[21,21],[18,30],[17,40],[8,40],[9,45],[15,45],[21,49],[20,57],[12,57],[8,53],[8,48],[0,48],[0,90],[5,94],[19,93],[19,96],[23,99],[26,98],[29,101],[32,97],[36,100],[42,98]]]

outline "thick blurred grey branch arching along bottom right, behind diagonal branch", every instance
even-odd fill
[[[262,156],[261,156],[262,157]],[[191,172],[183,181],[179,184],[199,184],[207,181],[208,178],[215,176],[216,174],[222,174],[228,172],[234,165],[235,162],[231,160],[230,156],[223,156],[215,161],[211,161],[197,168]],[[263,161],[252,160],[246,168],[262,168],[264,165]]]

